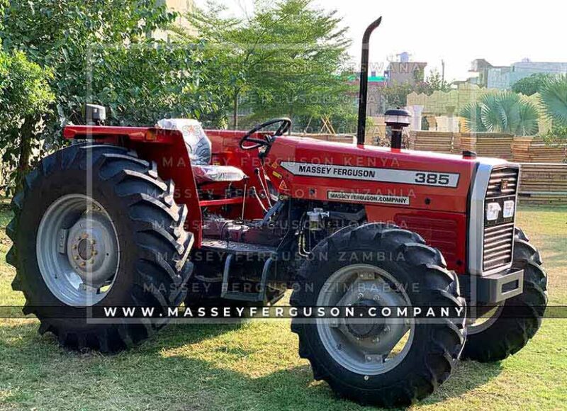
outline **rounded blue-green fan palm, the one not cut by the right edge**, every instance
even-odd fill
[[[473,132],[512,133],[533,135],[537,133],[537,107],[520,98],[518,94],[503,91],[486,94],[478,103],[469,103],[459,113]]]

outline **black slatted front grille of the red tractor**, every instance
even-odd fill
[[[503,167],[493,169],[488,181],[484,207],[488,203],[499,203],[502,210],[504,202],[516,200],[518,169]],[[510,218],[503,218],[503,212],[494,221],[484,220],[483,270],[488,271],[512,262],[514,244],[515,213]]]

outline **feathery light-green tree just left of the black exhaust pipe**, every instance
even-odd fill
[[[347,62],[350,41],[336,11],[311,0],[285,0],[257,12],[254,24],[266,33],[271,61],[260,61],[251,76],[247,105],[254,118],[349,116],[352,108]]]

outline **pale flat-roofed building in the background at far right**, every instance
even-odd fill
[[[488,89],[510,90],[520,79],[532,74],[567,74],[567,62],[532,62],[524,59],[510,66],[493,66],[484,59],[473,60],[469,82]]]

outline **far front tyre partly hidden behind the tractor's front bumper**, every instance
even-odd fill
[[[515,231],[512,266],[524,269],[523,293],[505,300],[476,325],[467,327],[464,359],[503,360],[524,348],[539,330],[547,305],[547,274],[539,252],[520,228]]]

